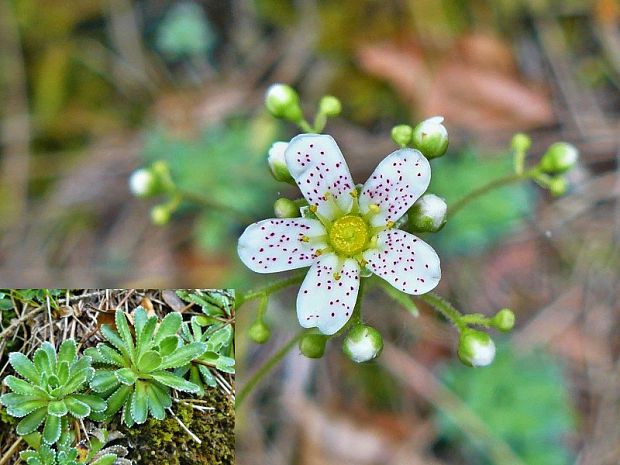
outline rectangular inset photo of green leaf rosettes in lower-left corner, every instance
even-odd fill
[[[235,463],[224,289],[1,289],[0,464]]]

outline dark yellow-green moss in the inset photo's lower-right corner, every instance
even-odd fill
[[[186,404],[175,404],[181,421],[202,440],[195,442],[179,423],[168,416],[149,419],[144,425],[125,428],[129,439],[127,458],[136,464],[232,465],[235,463],[235,411],[232,401],[219,389],[209,389],[201,398],[215,410],[200,412]]]

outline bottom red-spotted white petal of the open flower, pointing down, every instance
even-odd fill
[[[334,273],[338,273],[336,279]],[[349,321],[360,285],[360,267],[352,258],[322,255],[312,265],[297,295],[297,318],[304,328],[334,334]]]

